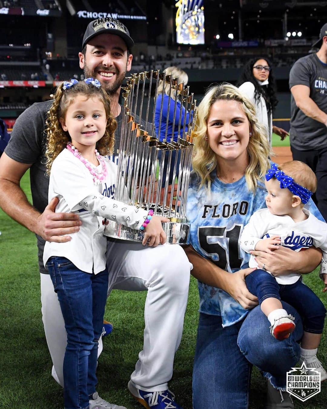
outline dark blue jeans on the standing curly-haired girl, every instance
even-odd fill
[[[108,272],[83,272],[65,257],[50,257],[47,268],[67,331],[63,364],[65,409],[89,408],[89,398],[98,383],[98,340],[107,301]]]

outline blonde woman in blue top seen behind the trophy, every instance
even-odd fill
[[[184,82],[184,86],[187,85],[188,76],[185,71],[180,70],[177,67],[167,67],[166,68],[166,75],[173,74],[174,78],[179,76],[179,83]],[[156,107],[155,107],[155,114],[154,114],[154,126],[156,129],[156,134],[160,141],[164,139],[168,142],[174,141],[177,142],[178,134],[180,133],[180,129],[183,127],[183,124],[189,123],[189,112],[185,112],[185,107],[181,105],[178,97],[176,96],[176,91],[170,91],[170,84],[160,81],[157,89],[157,98],[156,98]],[[176,110],[175,110],[176,108]],[[161,120],[160,120],[161,114]],[[185,119],[186,117],[186,119]],[[185,131],[187,131],[187,125],[185,126]],[[162,151],[158,153],[158,159],[161,159]],[[167,153],[168,155],[168,153]],[[174,164],[176,151],[172,152],[171,163]],[[179,169],[179,160],[177,158],[176,164],[176,177],[178,177],[178,169]],[[165,161],[165,169],[164,173],[166,174],[167,162]],[[169,184],[173,183],[173,172],[174,169],[171,167],[170,174],[169,174]],[[165,180],[162,181],[162,184],[165,184]]]

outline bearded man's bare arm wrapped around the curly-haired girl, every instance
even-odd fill
[[[73,213],[55,213],[58,198],[51,200],[43,213],[37,211],[27,200],[20,188],[20,180],[31,164],[11,159],[6,153],[0,158],[0,207],[16,220],[44,240],[62,243],[71,237],[62,236],[79,230],[82,223]]]

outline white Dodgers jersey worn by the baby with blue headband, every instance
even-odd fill
[[[240,247],[249,253],[254,250],[259,240],[278,235],[281,245],[298,252],[308,247],[319,247],[323,251],[323,259],[320,265],[320,274],[326,274],[327,270],[327,226],[318,220],[307,209],[303,209],[308,216],[306,220],[294,222],[290,216],[276,216],[268,209],[256,211],[244,227],[240,237]],[[251,255],[249,267],[258,267]],[[279,284],[293,284],[298,281],[300,274],[275,277]]]

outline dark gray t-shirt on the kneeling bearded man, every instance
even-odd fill
[[[37,102],[24,110],[17,118],[11,132],[5,153],[20,163],[32,164],[30,168],[30,181],[33,206],[42,213],[48,205],[49,178],[45,175],[45,146],[47,141],[46,124],[47,112],[53,101]],[[119,152],[120,134],[123,118],[123,108],[116,117],[117,129],[115,131],[114,156]],[[116,161],[115,161],[116,162]],[[48,274],[44,268],[42,256],[45,241],[38,239],[38,259],[40,272]]]

